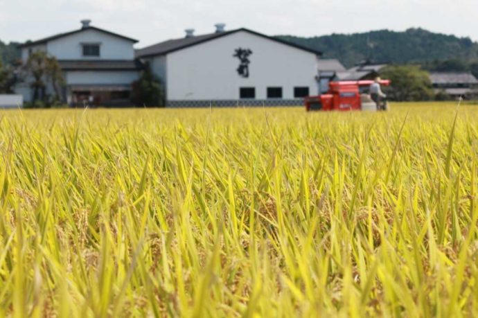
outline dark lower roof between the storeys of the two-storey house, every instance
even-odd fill
[[[64,71],[134,71],[143,68],[138,60],[60,60]]]

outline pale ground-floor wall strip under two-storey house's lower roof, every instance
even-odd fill
[[[137,71],[67,71],[67,85],[130,85],[138,79]]]

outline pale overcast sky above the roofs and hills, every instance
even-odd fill
[[[142,47],[210,33],[213,24],[267,35],[327,35],[421,27],[478,40],[478,0],[0,0],[0,40],[24,42],[92,25]]]

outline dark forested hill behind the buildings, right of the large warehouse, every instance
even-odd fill
[[[393,63],[478,60],[478,43],[469,37],[432,33],[422,28],[409,28],[405,32],[377,30],[350,35],[277,37],[322,51],[324,58],[337,58],[346,67],[366,59]]]

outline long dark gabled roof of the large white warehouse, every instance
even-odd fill
[[[260,37],[264,37],[266,39],[270,39],[274,42],[279,42],[288,46],[293,46],[295,48],[299,48],[300,50],[303,51],[308,51],[310,53],[314,53],[316,55],[321,55],[322,53],[320,51],[312,50],[311,48],[306,48],[304,46],[300,46],[297,44],[293,44],[287,41],[283,41],[282,39],[276,39],[275,37],[269,37],[268,35],[264,35],[262,33],[255,32],[253,30],[249,30],[247,28],[238,28],[236,30],[229,30],[229,31],[222,31],[222,32],[216,32],[216,33],[209,33],[205,35],[193,35],[190,37],[182,37],[179,39],[169,39],[164,42],[160,42],[157,44],[153,44],[152,46],[147,46],[145,48],[141,48],[139,50],[136,50],[136,57],[137,58],[147,58],[150,56],[155,56],[155,55],[165,55],[168,53],[172,53],[174,51],[179,51],[182,50],[183,48],[187,48],[189,46],[194,46],[197,44],[201,44],[204,42],[211,41],[212,39],[217,39],[219,37],[224,37],[226,35],[231,35],[233,33],[237,33],[240,31],[244,31],[247,33],[251,33],[254,35],[258,35]]]

